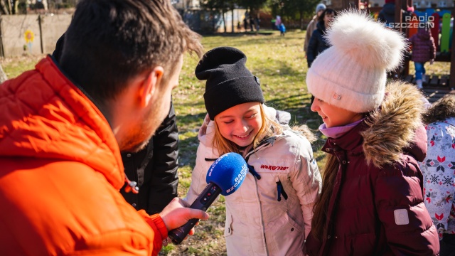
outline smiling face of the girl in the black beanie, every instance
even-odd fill
[[[237,144],[252,144],[262,127],[262,115],[259,102],[247,102],[228,108],[215,116],[221,136]]]

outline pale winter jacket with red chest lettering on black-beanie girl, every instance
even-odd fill
[[[281,123],[287,118],[289,122],[289,113],[265,109],[269,117],[277,117]],[[321,190],[321,174],[308,139],[287,124],[283,127],[283,134],[265,139],[256,151],[244,153],[261,178],[249,172],[242,186],[225,197],[228,255],[304,255],[314,201]],[[214,129],[207,116],[198,135],[196,166],[186,197],[190,203],[207,186],[207,171],[219,156],[212,146]],[[287,199],[283,193],[278,195],[278,182]]]

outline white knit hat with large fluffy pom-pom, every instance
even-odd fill
[[[352,9],[336,16],[326,37],[331,47],[306,74],[309,92],[353,112],[374,110],[384,97],[386,72],[402,61],[405,38]]]

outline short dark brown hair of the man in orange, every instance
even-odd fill
[[[186,50],[202,55],[199,39],[168,0],[82,0],[65,32],[60,65],[103,103],[157,65],[166,84]]]

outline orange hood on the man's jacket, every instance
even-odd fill
[[[122,188],[117,140],[100,110],[48,56],[0,86],[0,156],[78,161]]]

